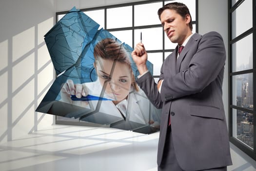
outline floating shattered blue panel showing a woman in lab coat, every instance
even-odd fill
[[[45,35],[58,77],[36,111],[109,128],[158,131],[161,110],[135,82],[133,48],[98,27],[74,7]],[[147,67],[153,74],[153,64]]]

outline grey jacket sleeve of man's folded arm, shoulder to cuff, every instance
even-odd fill
[[[210,32],[202,36],[199,41],[197,51],[188,68],[183,68],[176,75],[164,78],[161,87],[162,101],[201,92],[217,79],[226,60],[222,37],[217,32]],[[164,74],[164,71],[162,73],[161,70],[161,74]]]

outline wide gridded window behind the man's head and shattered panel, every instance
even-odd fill
[[[164,59],[177,45],[171,43],[164,34],[157,11],[164,4],[176,1],[183,2],[188,6],[193,21],[193,32],[198,32],[197,0],[144,0],[80,10],[98,22],[99,29],[103,28],[109,31],[120,41],[133,48],[140,41],[140,32],[142,32],[142,42],[147,50],[148,60],[154,65],[153,77],[157,82]],[[56,13],[56,21],[59,21],[67,12]],[[72,121],[68,123],[69,120],[71,121],[70,118],[57,117],[56,124],[78,125]]]

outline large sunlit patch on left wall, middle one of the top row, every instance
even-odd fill
[[[35,47],[35,26],[13,37],[13,62]]]

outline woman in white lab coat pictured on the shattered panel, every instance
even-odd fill
[[[62,101],[88,108],[87,113],[79,116],[82,121],[142,133],[158,131],[161,111],[136,84],[123,45],[113,39],[103,39],[94,48],[94,58],[98,80],[83,84],[68,80],[61,89]],[[110,100],[70,99],[70,95],[79,99],[88,94]]]

